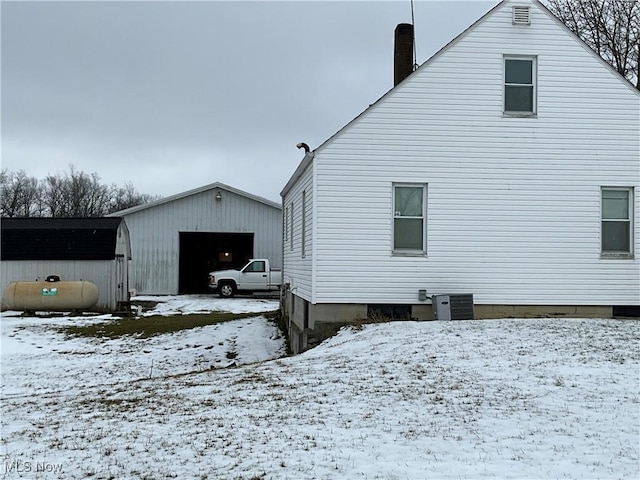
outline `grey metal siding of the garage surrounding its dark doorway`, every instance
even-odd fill
[[[222,187],[121,214],[131,237],[130,288],[138,294],[178,292],[179,232],[254,233],[254,256],[282,265],[282,210]]]

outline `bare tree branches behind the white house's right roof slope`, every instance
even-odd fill
[[[638,0],[546,0],[551,12],[638,90]]]

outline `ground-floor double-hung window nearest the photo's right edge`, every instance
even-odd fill
[[[633,188],[602,188],[601,248],[603,257],[633,255]]]

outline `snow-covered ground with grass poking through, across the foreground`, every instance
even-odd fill
[[[273,301],[151,297],[250,318],[150,339],[2,323],[2,477],[640,478],[640,322],[396,322],[295,357]],[[239,366],[229,366],[235,352]]]

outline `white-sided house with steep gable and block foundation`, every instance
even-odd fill
[[[640,92],[540,2],[502,1],[284,187],[292,347],[431,319],[434,294],[476,318],[638,307],[639,186]]]

